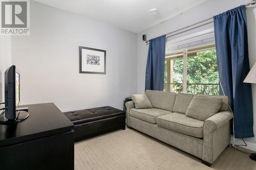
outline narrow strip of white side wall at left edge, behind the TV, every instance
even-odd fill
[[[0,103],[5,101],[5,70],[12,65],[11,36],[0,36]]]

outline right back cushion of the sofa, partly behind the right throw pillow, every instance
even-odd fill
[[[178,93],[176,95],[173,112],[185,114],[193,98],[194,94]]]

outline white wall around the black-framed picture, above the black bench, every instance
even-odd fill
[[[30,36],[12,37],[21,104],[122,109],[137,91],[136,34],[34,1],[30,9]],[[79,74],[79,45],[106,50],[106,75]]]

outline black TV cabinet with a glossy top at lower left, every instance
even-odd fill
[[[29,118],[0,124],[0,169],[74,169],[74,125],[53,104],[26,105]]]

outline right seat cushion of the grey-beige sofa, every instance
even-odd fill
[[[203,137],[203,124],[203,121],[187,117],[182,113],[170,113],[157,117],[157,126],[198,138]]]

